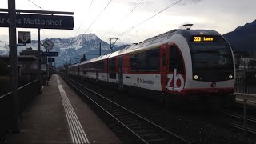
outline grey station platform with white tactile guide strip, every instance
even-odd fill
[[[18,122],[7,143],[122,143],[57,74]]]

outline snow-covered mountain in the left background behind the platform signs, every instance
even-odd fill
[[[102,41],[95,34],[81,34],[70,38],[50,38],[54,42],[54,48],[50,51],[57,51],[58,57],[56,57],[56,66],[62,66],[65,63],[76,63],[82,57],[82,54],[86,54],[86,58],[94,58],[99,54],[99,46],[101,43],[102,54],[110,53],[110,44]],[[44,40],[42,40],[43,42]],[[126,47],[127,44],[118,42],[114,46],[114,51],[121,50]],[[22,50],[31,47],[33,50],[38,50],[38,41],[33,41],[26,46],[18,46],[18,54]],[[45,50],[41,47],[41,50]],[[0,55],[8,53],[7,42],[0,41]]]

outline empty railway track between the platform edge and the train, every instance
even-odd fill
[[[127,135],[132,135],[132,137],[127,138],[130,142],[190,143],[177,134],[158,126],[154,122],[150,122],[139,114],[135,114],[133,111],[94,92],[94,90],[90,90],[86,86],[75,82],[73,79],[63,75],[61,76],[74,90],[78,91],[78,93],[82,94],[90,103],[93,103],[94,106],[97,106],[98,109],[104,111],[105,114],[114,119],[115,123],[118,123],[119,126],[126,129],[129,133]]]

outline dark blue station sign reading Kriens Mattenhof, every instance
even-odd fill
[[[0,27],[10,26],[10,15],[0,13]],[[19,28],[41,28],[73,30],[73,16],[16,14],[16,26]]]

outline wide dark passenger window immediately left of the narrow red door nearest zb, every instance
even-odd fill
[[[158,71],[159,49],[146,50],[137,54],[130,54],[130,70],[132,71]]]

